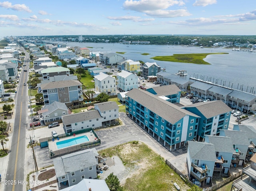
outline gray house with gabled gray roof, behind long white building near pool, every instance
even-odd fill
[[[54,121],[62,122],[61,116],[68,115],[68,108],[62,102],[54,101],[50,105],[44,106],[38,114],[41,124],[48,125]]]

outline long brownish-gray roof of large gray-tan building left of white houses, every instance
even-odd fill
[[[47,90],[47,89],[54,89],[54,88],[79,86],[79,85],[82,85],[82,84],[78,80],[55,81],[55,82],[49,82],[46,84],[41,84],[41,89]]]

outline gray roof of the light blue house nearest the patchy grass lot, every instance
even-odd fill
[[[210,143],[188,141],[188,152],[192,159],[216,161],[214,145]]]

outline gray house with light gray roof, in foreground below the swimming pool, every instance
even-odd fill
[[[72,186],[85,178],[97,178],[98,155],[92,148],[53,159],[59,189],[63,184]]]

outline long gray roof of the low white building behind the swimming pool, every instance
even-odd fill
[[[97,118],[101,118],[98,110],[90,110],[90,111],[62,116],[62,121],[65,125],[67,125],[67,124],[73,124],[73,123],[78,123],[78,122],[97,119]]]

